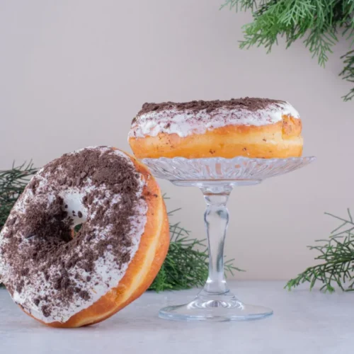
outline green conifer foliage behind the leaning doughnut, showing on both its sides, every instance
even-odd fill
[[[30,177],[37,171],[31,163],[0,171],[0,231]],[[169,216],[176,211],[178,210],[169,212]],[[190,232],[181,227],[179,222],[170,224],[170,232],[169,252],[149,290],[160,292],[204,285],[208,273],[208,254],[204,240],[191,238]],[[225,262],[227,273],[233,274],[234,270],[241,270],[232,264],[233,261]]]

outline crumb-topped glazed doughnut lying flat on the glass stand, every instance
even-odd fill
[[[138,159],[159,157],[302,155],[302,122],[285,101],[237,98],[230,101],[144,103],[128,135]]]

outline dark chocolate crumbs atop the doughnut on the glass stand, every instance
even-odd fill
[[[268,105],[277,105],[285,103],[284,101],[271,100],[269,98],[232,98],[229,101],[190,101],[184,103],[163,102],[163,103],[144,103],[142,109],[137,113],[137,116],[149,112],[160,112],[161,110],[189,110],[191,113],[196,113],[200,110],[205,110],[207,113],[216,110],[217,108],[228,109],[244,109],[244,110],[261,110],[267,108]]]

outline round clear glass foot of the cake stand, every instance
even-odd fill
[[[267,307],[244,304],[233,295],[198,295],[189,304],[164,307],[161,319],[175,321],[249,321],[273,314]]]

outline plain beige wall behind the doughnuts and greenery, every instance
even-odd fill
[[[287,279],[314,263],[306,246],[353,205],[353,104],[337,74],[341,42],[326,69],[301,43],[238,49],[249,13],[222,0],[70,0],[0,3],[0,169],[37,166],[80,147],[130,150],[130,121],[145,101],[263,96],[290,101],[304,123],[304,154],[318,161],[255,187],[239,188],[227,256],[249,279]],[[202,195],[161,182],[170,209],[204,238]]]

